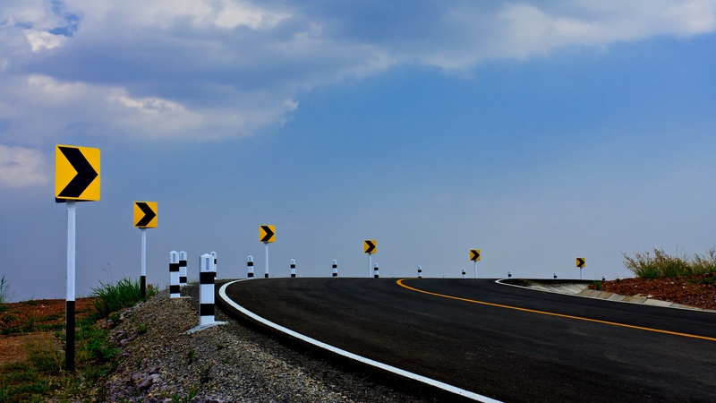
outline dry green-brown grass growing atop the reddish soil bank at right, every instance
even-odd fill
[[[631,270],[636,277],[642,279],[660,279],[695,274],[716,273],[716,248],[712,248],[703,255],[695,254],[692,257],[684,255],[670,255],[663,249],[653,249],[653,252],[635,252],[634,256],[624,256],[626,269]]]

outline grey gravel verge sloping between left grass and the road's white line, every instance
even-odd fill
[[[427,402],[286,347],[217,309],[226,324],[199,324],[198,287],[166,291],[123,314],[110,338],[119,364],[104,390],[128,402]],[[217,307],[218,308],[218,307]]]

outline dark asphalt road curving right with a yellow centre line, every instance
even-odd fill
[[[492,399],[716,401],[716,313],[487,279],[402,283],[414,289],[397,279],[254,279],[226,294],[313,339]]]

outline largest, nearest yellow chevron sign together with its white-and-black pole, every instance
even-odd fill
[[[67,296],[64,303],[64,370],[74,371],[74,303],[77,241],[76,201],[99,201],[100,150],[55,145],[55,202],[67,211]]]

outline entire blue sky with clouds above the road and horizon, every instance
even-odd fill
[[[66,296],[55,145],[101,150],[77,296],[147,277],[606,279],[716,245],[716,1],[4,0],[0,275]],[[580,273],[575,258],[584,257]]]

